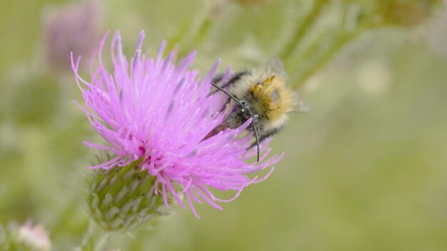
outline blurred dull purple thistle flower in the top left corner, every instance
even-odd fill
[[[70,69],[71,51],[91,55],[101,39],[100,9],[95,0],[43,11],[46,60],[54,71]]]

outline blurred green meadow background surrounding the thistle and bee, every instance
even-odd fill
[[[197,205],[197,220],[178,209],[106,250],[447,250],[440,1],[1,1],[4,227],[29,219],[54,250],[80,245],[94,154],[81,141],[101,139],[74,106],[67,51],[89,76],[108,29],[128,55],[141,29],[151,55],[163,39],[181,55],[196,49],[204,72],[216,58],[237,70],[281,55],[312,111],[291,114],[271,144],[286,152],[273,175],[224,211]]]

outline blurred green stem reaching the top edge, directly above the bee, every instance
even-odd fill
[[[295,32],[291,39],[286,43],[283,50],[280,51],[279,56],[283,59],[284,62],[288,61],[288,58],[291,56],[293,51],[295,50],[298,43],[300,43],[301,39],[303,39],[306,32],[311,29],[313,23],[316,21],[316,18],[320,15],[323,10],[323,6],[328,4],[328,0],[317,0],[311,11],[308,12],[306,17],[303,19],[301,25],[296,27]]]

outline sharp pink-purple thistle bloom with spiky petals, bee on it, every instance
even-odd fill
[[[91,82],[79,76],[80,57],[75,62],[71,55],[76,82],[85,101],[81,109],[108,145],[84,143],[115,153],[111,160],[91,168],[119,168],[139,160],[141,170],[156,176],[154,193],[163,195],[167,208],[167,193],[181,207],[184,195],[197,217],[193,201],[205,201],[221,210],[216,202],[234,200],[243,188],[268,178],[272,165],[282,156],[266,160],[268,149],[259,163],[246,163],[256,155],[256,148],[247,150],[253,142],[251,133],[245,130],[251,119],[239,128],[226,129],[204,140],[225,118],[219,111],[228,97],[221,92],[209,95],[211,77],[220,60],[200,80],[198,71],[189,70],[195,52],[176,64],[174,51],[162,58],[164,42],[156,58],[146,58],[141,53],[144,39],[141,31],[135,55],[127,61],[117,31],[111,42],[114,72],[109,73],[101,61],[106,36],[99,48],[99,67],[92,73]],[[228,68],[224,78],[230,76]],[[261,145],[261,150],[267,144]],[[247,176],[268,167],[271,169],[263,178]],[[221,200],[211,193],[211,188],[233,190],[236,194],[229,200]]]

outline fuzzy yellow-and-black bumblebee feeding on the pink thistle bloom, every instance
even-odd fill
[[[286,126],[287,113],[309,110],[306,103],[298,97],[298,93],[286,86],[286,74],[279,58],[269,61],[261,73],[240,71],[225,83],[221,83],[222,78],[223,75],[220,75],[212,80],[211,84],[217,90],[211,92],[211,95],[222,91],[228,96],[228,102],[223,108],[226,118],[221,125],[206,135],[206,138],[226,128],[238,128],[251,118],[247,130],[252,130],[256,137],[256,142],[251,147],[257,145],[258,161],[259,143]]]

